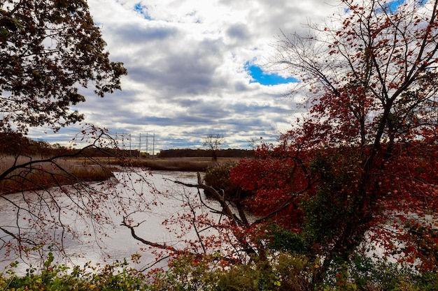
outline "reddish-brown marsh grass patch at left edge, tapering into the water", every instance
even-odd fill
[[[14,167],[25,165],[30,161],[41,160],[41,156],[1,156],[0,174]],[[113,177],[111,170],[85,158],[57,159],[52,163],[32,163],[17,167],[0,179],[0,194],[20,191],[35,191],[52,186],[76,184],[80,182],[104,181]]]

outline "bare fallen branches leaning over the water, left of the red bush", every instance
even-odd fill
[[[171,182],[183,188],[162,195],[172,195],[174,199],[180,200],[181,213],[166,218],[163,224],[167,225],[169,231],[173,229],[172,225],[176,226],[175,234],[181,241],[167,244],[141,237],[136,229],[147,221],[137,222],[136,219],[142,216],[133,212],[124,217],[121,225],[131,231],[134,239],[146,246],[161,250],[163,253],[160,254],[160,258],[164,260],[178,258],[180,255],[191,255],[195,258],[212,255],[212,261],[229,263],[246,263],[252,260],[252,256],[257,254],[257,247],[251,240],[251,230],[255,229],[255,225],[260,221],[269,217],[250,221],[241,204],[234,204],[223,191],[204,184],[199,173],[196,183]],[[185,187],[195,188],[197,192],[187,192]],[[203,195],[201,190],[209,191],[217,203],[211,203],[211,199]],[[193,237],[187,238],[186,235],[189,233],[192,233]],[[221,250],[220,253],[217,253],[218,249]],[[160,259],[148,267],[152,267],[158,261]]]

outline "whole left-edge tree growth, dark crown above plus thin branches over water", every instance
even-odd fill
[[[0,227],[2,251],[29,255],[50,248],[65,254],[65,239],[78,239],[78,232],[103,236],[106,226],[114,226],[111,211],[142,204],[141,193],[120,195],[107,165],[87,154],[115,156],[118,145],[108,130],[85,126],[72,142],[88,145],[57,154],[41,153],[22,136],[31,127],[57,131],[83,120],[71,110],[85,102],[80,87],[92,86],[100,97],[120,89],[127,70],[110,61],[105,45],[84,0],[0,1],[0,133],[10,140],[0,149],[0,200],[2,211],[15,218]],[[75,161],[91,166],[71,165]],[[97,176],[104,182],[90,184]],[[144,177],[138,181],[147,183]],[[8,195],[11,191],[21,195]],[[85,230],[71,223],[72,215]]]

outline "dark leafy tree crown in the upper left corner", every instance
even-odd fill
[[[85,0],[0,1],[0,130],[83,120],[78,86],[104,97],[127,73],[105,45]]]

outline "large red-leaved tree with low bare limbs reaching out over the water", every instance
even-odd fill
[[[173,223],[196,239],[184,250],[157,246],[136,237],[138,225],[127,219],[134,237],[197,263],[209,258],[207,267],[250,266],[246,274],[260,274],[258,290],[268,281],[273,290],[333,282],[353,290],[344,287],[375,274],[358,263],[369,263],[373,248],[383,262],[438,270],[438,1],[341,0],[339,7],[325,26],[309,24],[309,35],[279,39],[274,63],[301,78],[291,96],[305,95],[309,113],[278,144],[262,144],[229,171],[239,193],[200,177],[177,182],[218,202],[207,204],[200,192],[197,204],[185,197],[189,211]],[[291,274],[273,267],[281,252],[304,255],[306,267],[295,271],[309,285],[272,283]],[[369,280],[364,290],[385,290]]]

